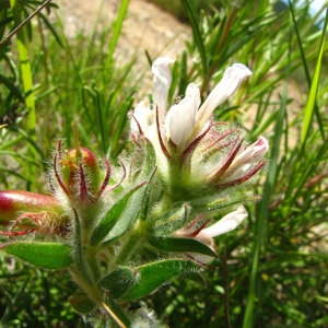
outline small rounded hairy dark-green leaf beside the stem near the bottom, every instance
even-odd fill
[[[134,271],[129,267],[118,267],[104,277],[97,285],[106,291],[112,298],[119,298],[136,283]]]

